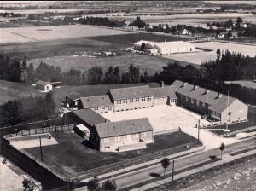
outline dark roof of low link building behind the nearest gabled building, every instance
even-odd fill
[[[85,123],[90,124],[99,124],[105,123],[106,119],[102,117],[102,115],[92,111],[91,109],[81,109],[73,112],[79,119],[82,119]]]

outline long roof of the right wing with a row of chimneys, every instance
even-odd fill
[[[216,111],[216,112],[222,112],[227,106],[230,106],[230,104],[233,101],[236,101],[235,97],[229,96],[229,103],[228,103],[228,96],[219,94],[216,91],[207,90],[205,88],[201,88],[198,86],[195,86],[193,84],[186,83],[183,85],[182,81],[176,80],[172,86],[177,87],[177,93],[189,96],[192,99],[195,99],[197,101],[202,101],[204,103],[207,103],[210,107],[210,110]],[[219,96],[220,95],[220,96]]]

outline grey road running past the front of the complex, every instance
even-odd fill
[[[237,142],[226,147],[224,150],[224,153],[232,153],[234,151],[237,151],[243,148],[253,147],[255,146],[255,143],[256,143],[256,138],[249,139],[244,142]],[[195,153],[192,156],[190,155],[188,157],[179,158],[175,161],[175,171],[178,171],[190,165],[196,165],[203,161],[209,160],[210,156],[212,155],[219,156],[220,155],[219,149],[216,148],[216,149],[208,150],[205,152]],[[227,156],[231,157],[230,155],[227,155]],[[132,171],[131,173],[126,173],[119,177],[113,177],[112,179],[116,181],[118,188],[125,188],[140,182],[152,180],[154,177],[151,177],[150,173],[158,173],[162,175],[163,168],[160,164],[153,165],[140,171]],[[172,173],[172,165],[170,165],[170,167],[166,169],[166,175],[171,173]]]

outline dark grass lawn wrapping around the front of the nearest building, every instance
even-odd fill
[[[183,132],[174,132],[154,136],[154,143],[148,144],[148,147],[144,149],[124,153],[105,153],[87,148],[80,143],[82,138],[75,133],[56,132],[52,136],[59,144],[43,147],[44,163],[66,175],[195,141],[194,137]],[[40,158],[39,148],[26,148],[25,151]]]

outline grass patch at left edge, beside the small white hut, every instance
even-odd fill
[[[7,101],[30,95],[44,96],[44,94],[35,90],[30,84],[0,80],[0,105]]]

